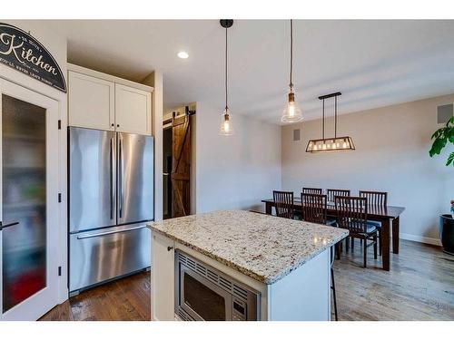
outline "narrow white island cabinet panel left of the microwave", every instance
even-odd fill
[[[174,319],[174,242],[153,232],[152,320]]]

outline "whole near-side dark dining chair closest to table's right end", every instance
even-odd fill
[[[349,230],[350,238],[360,238],[363,242],[363,267],[367,267],[367,248],[373,246],[377,259],[377,227],[368,223],[368,199],[363,197],[336,196],[334,199],[338,213],[338,226]],[[368,244],[368,241],[371,241]]]

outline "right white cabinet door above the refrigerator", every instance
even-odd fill
[[[115,83],[116,131],[151,134],[151,100],[150,92]]]

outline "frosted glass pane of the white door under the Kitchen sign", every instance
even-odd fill
[[[45,109],[2,98],[3,313],[46,286]]]

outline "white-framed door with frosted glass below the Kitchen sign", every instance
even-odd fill
[[[34,320],[58,296],[57,103],[5,81],[0,95],[0,319]]]

